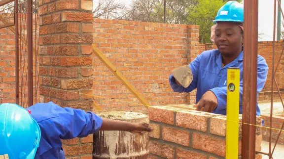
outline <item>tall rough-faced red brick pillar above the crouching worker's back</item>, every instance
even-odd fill
[[[41,102],[92,109],[80,94],[93,95],[92,9],[92,0],[39,0]]]

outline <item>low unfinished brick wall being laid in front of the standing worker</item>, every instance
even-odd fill
[[[169,105],[149,108],[149,159],[225,159],[226,116],[193,110],[192,106]],[[242,116],[240,115],[240,121]],[[257,118],[261,125],[261,117]],[[242,128],[242,125],[239,124]],[[239,155],[241,137],[239,130]],[[256,151],[261,151],[261,130],[256,129]],[[261,159],[256,154],[256,159]]]

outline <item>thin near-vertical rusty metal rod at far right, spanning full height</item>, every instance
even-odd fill
[[[276,0],[274,0],[274,22],[273,22],[273,51],[272,51],[272,76],[271,76],[271,104],[270,104],[270,128],[272,128],[272,115],[273,115],[273,83],[274,83],[274,56],[275,56],[275,31],[276,31]],[[269,154],[271,154],[271,142],[272,142],[272,129],[269,130]],[[272,159],[269,156],[269,159]]]

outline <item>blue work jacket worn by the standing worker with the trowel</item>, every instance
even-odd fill
[[[222,67],[222,55],[216,50],[205,51],[189,64],[193,80],[187,88],[179,86],[173,75],[170,76],[170,85],[174,92],[191,92],[197,88],[196,103],[209,90],[211,90],[218,99],[218,106],[213,110],[215,114],[226,115],[227,108],[227,69],[228,67],[240,68],[240,114],[243,112],[243,51],[231,63]],[[268,65],[265,59],[257,56],[257,97],[263,89],[268,73]],[[260,116],[260,109],[256,102],[256,115]]]

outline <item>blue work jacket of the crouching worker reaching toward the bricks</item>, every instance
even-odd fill
[[[53,102],[39,103],[28,109],[41,131],[35,159],[65,159],[61,139],[86,137],[97,132],[103,123],[93,112],[62,108]]]

